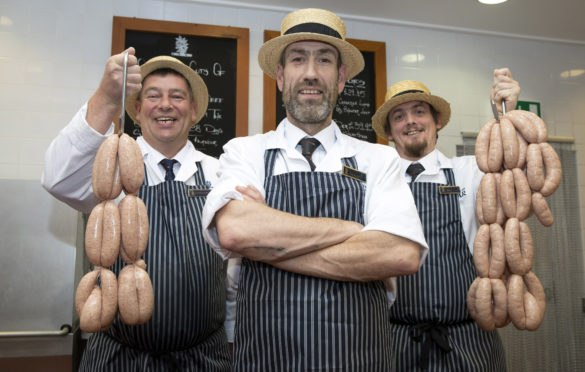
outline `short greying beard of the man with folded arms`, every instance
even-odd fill
[[[303,84],[307,86],[307,84]],[[315,84],[316,85],[316,84]],[[317,89],[317,86],[311,86]],[[282,101],[288,114],[290,114],[297,122],[303,124],[320,124],[323,123],[329,115],[333,112],[333,107],[337,101],[337,90],[331,87],[322,88],[323,100],[305,100],[299,102],[296,94],[298,88],[289,88],[287,84],[283,85]]]

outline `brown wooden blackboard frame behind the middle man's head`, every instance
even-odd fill
[[[280,31],[264,30],[264,42],[280,35]],[[375,102],[370,102],[370,106],[375,110],[384,103],[386,95],[386,43],[383,41],[370,41],[359,39],[346,39],[353,46],[362,52],[370,52],[374,55],[374,76],[376,77],[375,85]],[[264,133],[276,129],[276,80],[264,74],[264,97],[263,97],[263,126]],[[374,113],[372,112],[372,115]],[[377,142],[388,144],[387,140],[376,137]]]

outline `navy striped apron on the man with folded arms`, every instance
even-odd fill
[[[340,173],[273,175],[265,153],[266,203],[285,212],[363,223],[364,185]],[[354,158],[343,164],[357,169]],[[234,370],[386,371],[388,302],[382,281],[326,280],[242,260]]]

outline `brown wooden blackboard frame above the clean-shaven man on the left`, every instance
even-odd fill
[[[235,137],[248,135],[250,31],[247,28],[114,16],[112,54],[125,49],[127,31],[232,39],[236,42]],[[161,54],[164,54],[161,52]]]

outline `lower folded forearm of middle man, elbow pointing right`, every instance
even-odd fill
[[[364,231],[346,241],[272,262],[279,269],[339,281],[383,280],[418,270],[422,246],[382,231]]]

